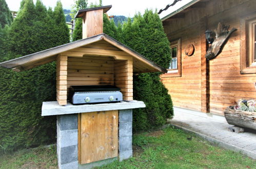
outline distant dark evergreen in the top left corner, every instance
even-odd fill
[[[8,8],[5,0],[0,0],[0,28],[4,28],[5,25],[12,23],[12,13]]]

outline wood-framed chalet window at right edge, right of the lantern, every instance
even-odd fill
[[[256,73],[256,14],[251,14],[240,23],[241,74]]]

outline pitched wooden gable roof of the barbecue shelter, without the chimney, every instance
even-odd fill
[[[33,54],[29,54],[26,56],[18,57],[12,60],[8,60],[5,62],[0,63],[1,67],[12,69],[14,71],[24,71],[32,69],[36,66],[47,64],[48,62],[56,60],[56,56],[61,53],[65,53],[67,56],[72,56],[73,52],[69,52],[69,50],[77,49],[89,44],[96,43],[97,41],[104,40],[108,44],[124,51],[130,57],[133,57],[133,72],[134,73],[146,73],[146,72],[163,72],[166,73],[167,70],[153,61],[147,59],[143,55],[137,53],[136,51],[128,48],[127,46],[123,45],[119,41],[115,40],[114,38],[108,36],[105,33],[91,36],[85,39],[73,41],[72,43],[57,46],[54,48],[50,48],[44,51],[36,52]],[[90,51],[89,51],[90,52]],[[78,57],[83,57],[86,54],[93,53],[85,53],[85,52],[76,52],[75,55]],[[102,54],[100,54],[102,55]],[[115,58],[115,54],[106,54],[102,56],[111,56]]]

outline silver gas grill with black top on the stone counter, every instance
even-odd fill
[[[120,88],[111,85],[70,86],[69,101],[72,104],[122,101]]]

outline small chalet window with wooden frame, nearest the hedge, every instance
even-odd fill
[[[179,77],[181,76],[181,39],[170,42],[172,60],[168,72],[162,77]]]

